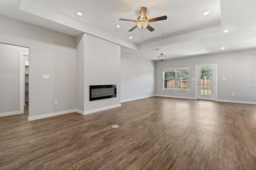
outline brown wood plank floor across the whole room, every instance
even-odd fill
[[[0,117],[1,170],[256,169],[256,105],[151,97],[27,116]]]

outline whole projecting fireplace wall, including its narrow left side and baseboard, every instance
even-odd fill
[[[85,115],[121,106],[120,45],[83,34],[76,38],[76,51],[77,112]]]

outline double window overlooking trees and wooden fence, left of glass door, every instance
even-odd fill
[[[189,68],[163,70],[163,89],[189,90]]]

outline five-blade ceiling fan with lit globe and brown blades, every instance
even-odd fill
[[[141,29],[146,27],[149,31],[154,31],[155,29],[152,28],[150,25],[148,25],[149,22],[154,22],[154,21],[160,21],[160,20],[166,20],[167,19],[167,16],[161,16],[161,17],[157,17],[157,18],[148,19],[146,17],[146,12],[147,12],[147,8],[146,7],[141,7],[140,16],[138,17],[137,20],[128,20],[128,19],[122,19],[122,18],[119,18],[119,20],[120,21],[137,22],[137,25],[132,27],[132,29],[130,29],[129,31],[133,31],[137,27],[139,27]]]

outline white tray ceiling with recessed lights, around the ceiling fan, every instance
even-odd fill
[[[128,32],[136,23],[118,19],[136,20],[141,6],[148,8],[148,19],[167,20],[151,22],[152,32]],[[0,0],[0,15],[72,36],[85,32],[158,60],[160,53],[173,59],[256,47],[255,7],[255,0]]]

